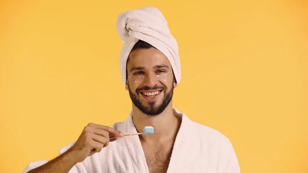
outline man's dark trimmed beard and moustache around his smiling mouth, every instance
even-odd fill
[[[142,88],[137,88],[136,93],[142,94],[142,93],[140,93],[141,90],[150,90],[150,89],[162,89],[161,92],[164,93],[164,98],[163,98],[163,101],[162,101],[161,104],[155,106],[156,101],[148,101],[148,105],[143,105],[141,103],[141,100],[137,97],[137,95],[131,92],[129,85],[128,85],[129,96],[130,96],[132,103],[140,111],[142,111],[144,114],[152,117],[152,116],[157,116],[157,115],[161,114],[166,109],[166,107],[168,106],[168,104],[172,100],[174,86],[172,85],[171,90],[168,93],[166,93],[165,87],[157,87],[157,86],[155,86],[153,88],[150,88],[148,86],[145,86],[145,87],[142,87]]]

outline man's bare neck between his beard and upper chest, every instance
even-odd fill
[[[132,104],[132,121],[138,132],[143,132],[145,126],[154,128],[154,134],[140,136],[141,141],[149,143],[174,141],[181,123],[181,120],[174,116],[172,101],[161,114],[152,117]]]

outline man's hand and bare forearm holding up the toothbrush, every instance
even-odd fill
[[[113,138],[110,139],[109,135]],[[28,173],[67,173],[77,163],[109,145],[124,134],[108,126],[90,123],[82,131],[75,144],[59,157],[30,170]]]

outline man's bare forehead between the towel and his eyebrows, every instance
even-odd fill
[[[163,64],[171,68],[171,64],[165,54],[156,48],[137,49],[130,53],[127,68],[128,70],[136,66],[152,68],[152,66]]]

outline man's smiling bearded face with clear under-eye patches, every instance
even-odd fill
[[[127,74],[126,89],[133,104],[148,116],[163,112],[177,86],[167,57],[155,48],[133,50]]]

